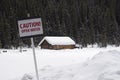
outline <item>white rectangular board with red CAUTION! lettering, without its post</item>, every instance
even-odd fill
[[[20,37],[43,34],[41,18],[19,20],[18,28]]]

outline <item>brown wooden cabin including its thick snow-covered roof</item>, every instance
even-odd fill
[[[74,49],[75,41],[73,41],[70,37],[44,37],[39,46],[42,49]]]

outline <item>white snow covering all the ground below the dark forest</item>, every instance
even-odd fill
[[[1,80],[36,80],[32,49],[24,50],[0,49]],[[120,47],[35,51],[40,80],[120,79]]]

